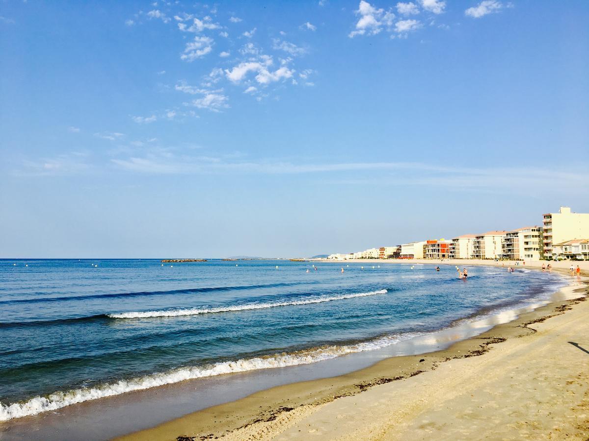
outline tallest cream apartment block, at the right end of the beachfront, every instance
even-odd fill
[[[573,213],[561,206],[558,213],[544,215],[544,257],[555,258],[552,244],[589,238],[589,213]]]

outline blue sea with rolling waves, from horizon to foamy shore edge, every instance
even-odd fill
[[[377,349],[563,285],[529,270],[475,266],[459,280],[445,265],[316,265],[0,260],[0,421]]]

